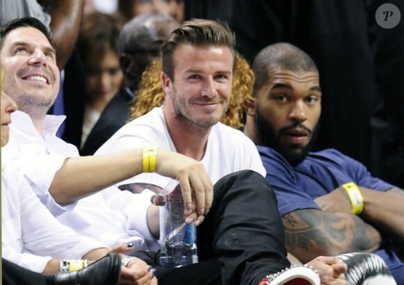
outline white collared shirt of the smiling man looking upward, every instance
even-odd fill
[[[146,250],[144,238],[155,240],[146,220],[150,197],[154,194],[151,191],[133,195],[112,186],[101,191],[105,195],[95,193],[69,206],[60,206],[49,194],[63,161],[79,156],[77,147],[56,137],[64,117],[47,115],[41,136],[29,115],[16,111],[11,114],[10,140],[2,148],[2,154],[9,152],[41,202],[63,225],[109,246],[131,239],[134,250]]]

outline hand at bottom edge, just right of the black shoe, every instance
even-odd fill
[[[121,275],[118,285],[157,285],[157,278],[154,276],[154,269],[141,259],[130,261],[129,267],[121,266]]]

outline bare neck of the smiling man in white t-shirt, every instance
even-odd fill
[[[177,152],[201,161],[205,155],[212,127],[199,127],[192,123],[187,124],[178,120],[166,106],[163,106],[163,114]]]

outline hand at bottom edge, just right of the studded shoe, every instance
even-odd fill
[[[345,263],[339,261],[338,257],[316,257],[306,263],[307,266],[313,266],[320,275],[321,284],[329,285],[347,285],[345,275],[348,267]]]

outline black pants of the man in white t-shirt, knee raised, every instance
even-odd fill
[[[210,212],[197,227],[199,263],[157,268],[159,284],[258,284],[290,266],[277,199],[266,179],[243,170],[215,184]],[[139,252],[156,265],[156,254]]]

